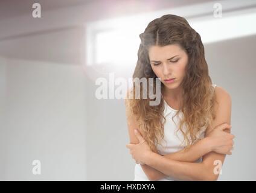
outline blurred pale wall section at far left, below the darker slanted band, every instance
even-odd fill
[[[86,180],[82,68],[13,59],[0,67],[7,88],[0,179]],[[32,173],[33,160],[40,160],[41,175]]]

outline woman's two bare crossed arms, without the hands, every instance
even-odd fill
[[[210,140],[210,133],[217,125],[231,122],[231,96],[222,87],[216,87],[217,103],[214,106],[216,119],[213,126],[206,129],[205,138],[193,144],[187,151],[181,150],[176,153],[161,156],[152,153],[142,166],[143,171],[149,180],[159,180],[170,176],[179,180],[217,180],[219,172],[214,172],[216,160],[223,165],[225,154],[213,151],[213,141]],[[139,141],[133,132],[138,128],[135,118],[127,119],[131,144],[138,144]],[[140,130],[139,130],[140,131]],[[141,131],[140,131],[141,132]],[[230,130],[228,131],[230,133]],[[195,160],[203,157],[201,163],[194,163]]]

